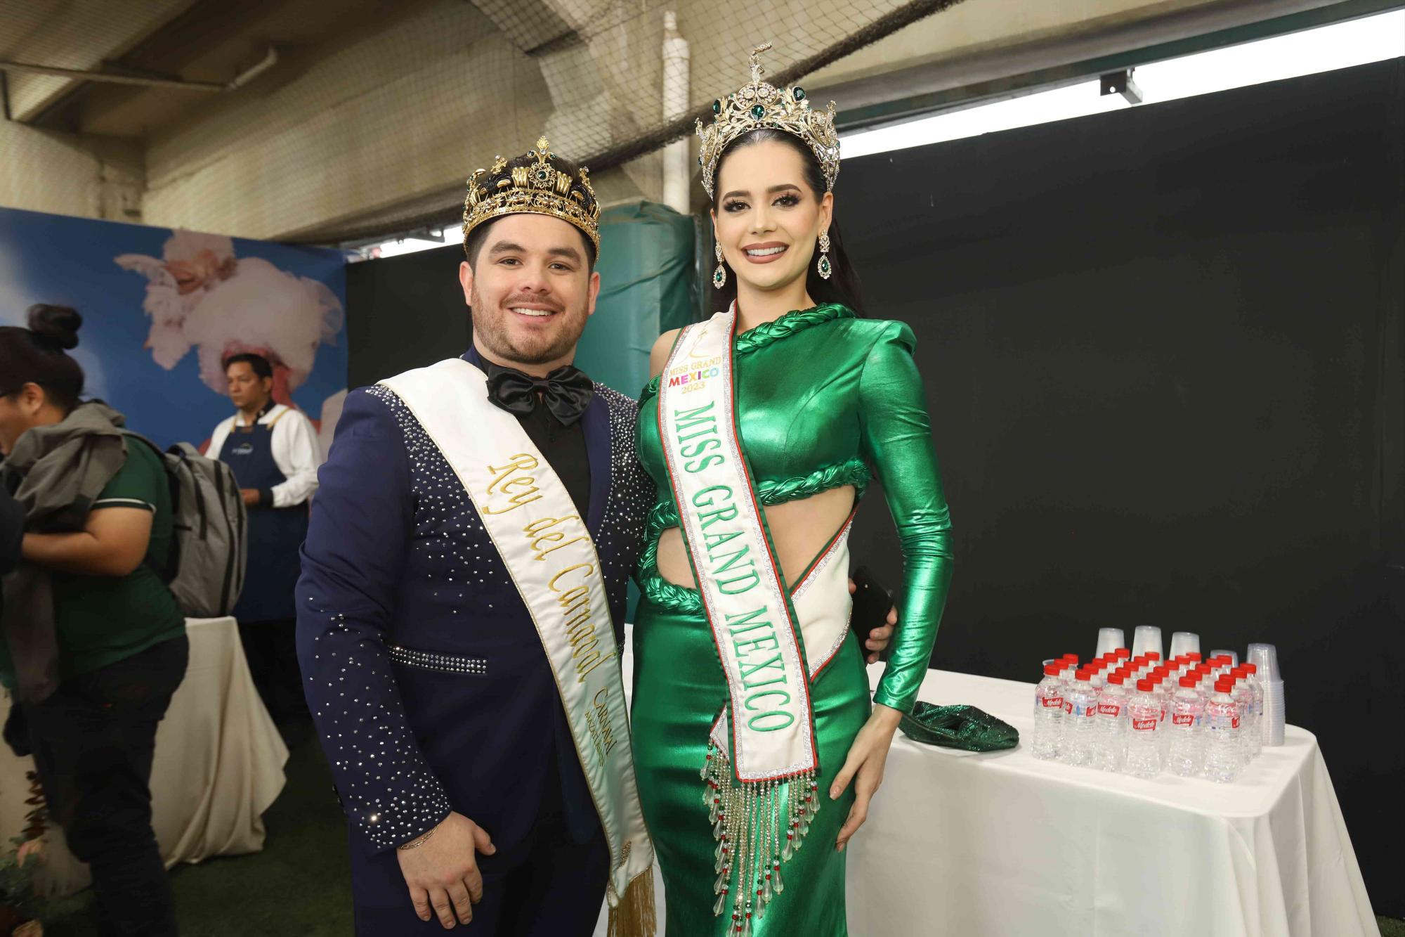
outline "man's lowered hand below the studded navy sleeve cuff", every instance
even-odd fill
[[[478,853],[492,855],[496,851],[483,827],[461,813],[444,817],[423,846],[396,850],[420,920],[437,914],[445,930],[454,927],[455,919],[461,924],[473,920],[473,905],[483,900]]]

